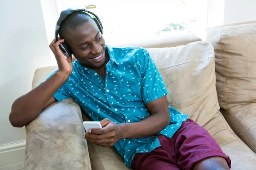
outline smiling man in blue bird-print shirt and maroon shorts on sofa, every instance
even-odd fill
[[[114,146],[134,170],[228,170],[231,161],[210,134],[167,104],[168,91],[148,51],[111,48],[92,18],[73,12],[61,23],[62,39],[49,47],[58,70],[12,105],[9,119],[22,127],[55,101],[72,97],[102,129],[84,138]],[[66,42],[76,61],[63,56]]]

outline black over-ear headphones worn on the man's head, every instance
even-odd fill
[[[101,34],[103,34],[102,23],[100,22],[99,17],[96,14],[94,14],[93,12],[87,11],[84,8],[81,8],[81,9],[68,8],[68,9],[66,9],[64,11],[61,11],[60,17],[59,17],[59,19],[57,21],[56,28],[55,28],[55,41],[56,42],[58,41],[58,31],[60,29],[61,23],[63,22],[63,20],[65,20],[65,18],[69,14],[72,14],[74,11],[83,11],[85,13],[92,14],[95,17],[95,18],[93,17],[93,20],[97,24],[97,26],[99,28],[99,31],[101,32]],[[72,51],[71,51],[70,47],[65,42],[62,42],[59,45],[59,47],[60,47],[61,51],[63,52],[64,56],[71,57]]]

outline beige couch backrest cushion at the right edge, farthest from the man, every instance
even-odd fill
[[[213,28],[207,40],[215,49],[221,108],[256,102],[256,23]]]

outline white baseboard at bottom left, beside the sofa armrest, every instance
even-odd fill
[[[0,145],[0,170],[7,167],[8,170],[21,169],[24,166],[25,147],[26,140]]]

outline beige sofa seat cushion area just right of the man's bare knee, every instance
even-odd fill
[[[256,153],[236,136],[220,112],[203,127],[230,156],[231,170],[255,170]]]

